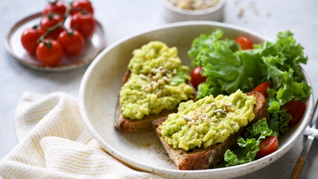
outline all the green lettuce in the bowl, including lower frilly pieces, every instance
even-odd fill
[[[290,100],[309,97],[311,87],[303,80],[300,66],[307,63],[308,57],[292,32],[279,32],[276,42],[254,44],[251,50],[241,50],[235,40],[222,38],[223,34],[220,29],[210,35],[201,34],[188,52],[192,66],[202,67],[202,76],[207,77],[198,87],[197,98],[228,95],[237,89],[249,92],[266,81],[272,88],[267,88],[268,125],[266,120],[254,124],[252,128],[257,129],[257,134],[248,131],[249,137],[238,140],[240,147],[225,154],[227,166],[231,166],[254,160],[259,142],[267,134],[278,136],[286,132],[292,116],[280,110],[281,106]]]

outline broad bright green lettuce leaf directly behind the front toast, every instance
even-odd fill
[[[207,80],[198,87],[198,98],[209,94],[231,94],[237,89],[250,91],[259,81],[266,80],[267,68],[256,58],[258,52],[233,52],[225,41],[217,41],[213,45],[209,53],[201,54],[202,75]]]

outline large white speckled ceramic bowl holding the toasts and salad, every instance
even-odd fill
[[[307,109],[302,120],[286,134],[280,135],[281,146],[276,152],[248,164],[221,169],[179,171],[169,159],[154,132],[127,134],[115,130],[116,104],[122,78],[132,58],[134,49],[149,41],[159,40],[168,46],[176,46],[183,64],[190,65],[187,51],[194,38],[201,33],[210,34],[215,29],[224,31],[224,36],[236,39],[243,35],[254,43],[266,39],[250,30],[230,24],[212,21],[179,22],[127,37],[113,43],[102,51],[83,76],[79,89],[79,106],[82,118],[100,145],[112,156],[128,166],[166,178],[234,178],[257,171],[276,161],[303,135],[313,113],[313,94],[307,99]],[[305,74],[305,81],[310,81]]]

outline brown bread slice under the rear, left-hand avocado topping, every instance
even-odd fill
[[[127,70],[121,86],[123,86],[129,79],[131,72]],[[192,86],[189,83],[190,86]],[[195,95],[194,95],[195,96]],[[118,98],[119,99],[119,98]],[[116,110],[116,119],[115,119],[115,127],[117,130],[121,132],[131,132],[131,133],[146,133],[153,131],[154,120],[167,117],[170,113],[174,113],[178,111],[178,106],[176,106],[172,110],[163,109],[159,114],[149,114],[145,115],[143,119],[130,119],[123,116],[123,111],[121,110],[120,101],[118,100],[117,110]]]

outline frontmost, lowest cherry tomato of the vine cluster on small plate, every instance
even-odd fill
[[[62,46],[55,40],[41,42],[36,48],[36,58],[47,66],[58,65],[63,57]]]

